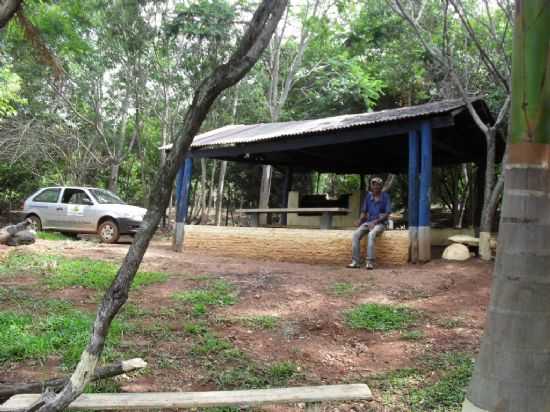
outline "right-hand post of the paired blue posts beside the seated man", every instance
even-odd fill
[[[432,192],[432,125],[426,120],[421,125],[420,150],[420,198],[418,199],[418,260],[427,262],[431,259],[432,239],[430,233],[431,192]]]

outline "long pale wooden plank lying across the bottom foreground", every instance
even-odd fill
[[[1,412],[21,411],[40,394],[15,395],[0,405]],[[223,392],[94,393],[80,395],[69,410],[138,410],[154,408],[198,408],[247,406],[297,402],[371,400],[365,384],[304,386]]]

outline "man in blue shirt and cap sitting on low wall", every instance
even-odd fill
[[[374,177],[370,181],[371,191],[367,192],[361,218],[357,222],[359,227],[353,232],[352,260],[349,268],[358,268],[361,263],[361,239],[369,234],[367,245],[367,269],[374,269],[375,239],[385,229],[386,222],[391,213],[391,200],[387,192],[382,192],[382,179]]]

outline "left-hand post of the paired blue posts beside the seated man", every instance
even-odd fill
[[[409,131],[409,239],[411,262],[418,262],[418,170],[419,137],[417,130]]]

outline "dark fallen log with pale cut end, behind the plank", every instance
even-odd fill
[[[97,368],[94,372],[92,381],[100,379],[111,378],[113,376],[121,375],[123,373],[133,372],[138,369],[143,369],[147,366],[141,358],[130,359],[126,361],[120,361],[112,363],[101,368]],[[54,378],[44,382],[28,382],[28,383],[13,383],[5,384],[0,383],[0,402],[5,401],[13,395],[20,393],[42,393],[44,391],[58,391],[69,381],[69,377]]]

